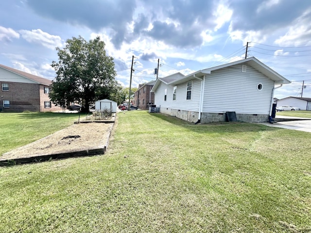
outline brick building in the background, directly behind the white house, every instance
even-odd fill
[[[148,110],[149,104],[155,102],[155,93],[150,92],[154,84],[155,81],[151,81],[138,85],[138,90],[134,93],[134,105],[139,109]]]

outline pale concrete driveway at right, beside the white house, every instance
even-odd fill
[[[285,117],[285,116],[282,116]],[[284,129],[289,129],[289,130],[299,130],[299,131],[305,131],[305,132],[311,132],[311,119],[309,118],[299,118],[297,120],[294,117],[285,117],[288,118],[286,121],[278,121],[278,118],[275,118],[276,123],[260,123],[263,125],[267,125],[270,127],[278,127],[278,128],[284,128]],[[293,120],[291,120],[293,119]]]

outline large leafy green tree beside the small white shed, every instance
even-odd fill
[[[68,39],[63,49],[56,48],[59,61],[52,62],[56,72],[50,92],[53,103],[61,107],[79,103],[88,111],[90,103],[118,92],[113,58],[104,47],[99,36],[88,42],[79,36]]]

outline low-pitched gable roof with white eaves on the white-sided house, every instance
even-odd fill
[[[176,78],[175,79],[170,79],[169,78],[170,76],[167,76],[167,77],[164,77],[164,78],[160,78],[159,80],[162,81],[165,84],[177,85],[177,84],[181,84],[181,83],[186,83],[186,82],[191,81],[191,80],[193,80],[195,78],[202,78],[204,75],[210,74],[211,71],[214,71],[214,70],[217,70],[217,69],[222,69],[222,68],[225,68],[225,67],[235,66],[235,65],[239,65],[239,64],[245,64],[245,65],[248,65],[248,66],[251,66],[251,67],[257,69],[259,72],[261,72],[262,74],[266,75],[271,80],[275,81],[275,84],[291,83],[289,80],[287,80],[286,78],[284,78],[280,74],[276,73],[276,71],[274,71],[270,67],[264,65],[262,62],[260,62],[255,57],[250,57],[250,58],[242,59],[242,60],[239,60],[239,61],[236,61],[236,62],[227,63],[227,64],[224,64],[224,65],[221,65],[221,66],[217,66],[217,67],[210,67],[210,68],[207,68],[207,69],[202,69],[202,70],[196,71],[194,73],[191,73],[189,75],[180,77],[178,79],[176,79]],[[154,88],[152,88],[152,91],[154,91],[157,88],[157,86],[158,86],[158,84],[157,85],[155,84]]]

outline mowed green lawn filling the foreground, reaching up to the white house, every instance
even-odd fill
[[[311,231],[310,133],[117,118],[104,155],[0,167],[0,232]]]

